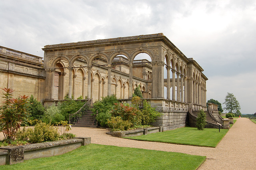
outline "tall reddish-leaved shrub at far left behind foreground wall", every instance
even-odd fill
[[[0,131],[4,133],[6,140],[15,140],[16,133],[20,125],[28,117],[27,98],[28,96],[20,96],[17,99],[12,98],[12,89],[3,89],[4,101],[0,107]]]

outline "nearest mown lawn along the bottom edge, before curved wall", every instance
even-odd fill
[[[195,170],[205,159],[206,156],[196,156],[176,152],[89,144],[63,155],[26,160],[23,163],[14,165],[2,165],[0,166],[0,169]]]

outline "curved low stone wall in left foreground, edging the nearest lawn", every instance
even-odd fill
[[[90,143],[90,137],[77,137],[23,146],[4,146],[0,147],[0,165],[11,165],[29,159],[61,155]]]

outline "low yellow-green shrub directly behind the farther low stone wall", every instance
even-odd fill
[[[113,131],[120,131],[120,130],[128,130],[132,126],[132,123],[130,123],[129,121],[124,121],[122,120],[122,117],[117,116],[117,117],[111,117],[111,119],[108,119],[108,126]]]

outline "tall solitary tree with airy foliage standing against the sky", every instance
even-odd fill
[[[226,105],[224,109],[228,110],[229,113],[240,113],[240,104],[236,100],[236,97],[233,95],[233,93],[228,93],[226,95],[225,102],[223,104]]]

